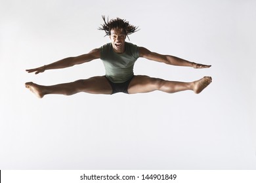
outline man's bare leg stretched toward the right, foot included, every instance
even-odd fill
[[[210,83],[211,77],[208,76],[194,82],[176,82],[160,78],[150,78],[149,76],[135,76],[129,84],[128,92],[133,94],[160,90],[161,92],[175,93],[184,90],[193,90],[195,93],[200,93]]]

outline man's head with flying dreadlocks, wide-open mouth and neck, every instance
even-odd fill
[[[104,30],[106,35],[110,36],[115,52],[123,53],[125,51],[126,36],[128,37],[128,35],[138,31],[138,27],[130,25],[129,22],[120,18],[112,19],[110,21],[106,21],[105,16],[102,16],[102,18],[104,24],[102,27],[99,27],[99,29]]]

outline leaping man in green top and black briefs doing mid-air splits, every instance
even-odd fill
[[[146,93],[160,90],[167,93],[192,90],[200,93],[211,83],[211,77],[205,76],[194,82],[175,82],[163,80],[161,78],[151,78],[144,75],[133,75],[133,66],[138,58],[146,58],[169,65],[187,66],[194,68],[209,68],[211,65],[203,65],[186,61],[175,56],[161,55],[150,50],[125,42],[126,37],[135,33],[138,27],[130,25],[126,20],[120,18],[106,21],[102,16],[104,24],[100,30],[104,30],[110,37],[110,43],[91,50],[88,54],[77,57],[61,59],[49,65],[27,69],[28,73],[43,73],[49,69],[62,69],[72,67],[73,65],[102,59],[105,69],[105,76],[94,76],[92,78],[77,80],[75,82],[56,84],[53,86],[41,86],[33,82],[27,82],[26,88],[29,88],[37,97],[42,98],[47,94],[73,95],[77,92],[95,93],[95,94],[114,94],[123,93]],[[129,37],[128,37],[129,38]]]

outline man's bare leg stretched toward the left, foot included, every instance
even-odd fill
[[[33,82],[27,82],[25,86],[39,98],[47,94],[73,95],[78,92],[94,94],[112,93],[112,87],[104,76],[95,76],[85,80],[76,80],[75,82],[56,84],[53,86],[41,86]]]

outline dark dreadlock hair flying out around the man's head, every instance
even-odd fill
[[[135,27],[134,25],[130,25],[129,22],[127,22],[124,19],[121,18],[116,18],[116,19],[111,19],[110,21],[106,21],[106,18],[104,15],[102,15],[102,19],[104,20],[104,24],[101,26],[102,27],[98,27],[99,30],[105,31],[106,35],[110,35],[111,34],[111,30],[114,28],[119,28],[119,29],[123,29],[123,31],[125,31],[125,35],[131,35],[132,33],[135,33],[138,30],[138,27]],[[129,39],[129,37],[128,37]],[[130,39],[129,39],[130,40]]]

